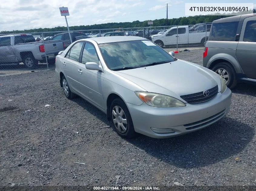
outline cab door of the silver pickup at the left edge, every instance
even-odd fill
[[[0,62],[15,62],[11,37],[0,37]]]

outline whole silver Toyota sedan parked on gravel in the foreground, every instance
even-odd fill
[[[56,57],[55,72],[67,98],[93,104],[126,138],[193,132],[224,117],[231,104],[218,74],[141,37],[78,40]]]

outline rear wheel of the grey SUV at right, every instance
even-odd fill
[[[234,68],[227,62],[221,62],[212,68],[222,78],[224,78],[228,88],[232,89],[237,84],[237,77]],[[225,77],[226,76],[226,77]]]

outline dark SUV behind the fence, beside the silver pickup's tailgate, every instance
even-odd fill
[[[81,32],[70,32],[70,35],[71,35],[72,42],[75,42],[76,40],[81,39],[81,37],[88,38],[85,33],[81,33]],[[62,40],[65,48],[67,48],[71,44],[68,33],[56,34],[52,37],[52,40]]]

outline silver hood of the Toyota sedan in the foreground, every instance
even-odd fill
[[[179,59],[171,63],[113,72],[148,92],[176,98],[208,90],[216,85],[219,85],[220,90],[217,74],[200,65]]]

